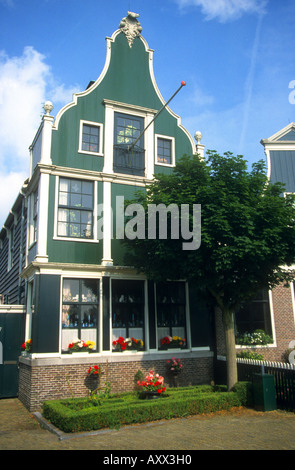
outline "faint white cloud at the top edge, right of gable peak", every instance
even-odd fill
[[[200,7],[206,20],[218,19],[225,23],[245,13],[265,13],[268,0],[176,0],[181,8]]]

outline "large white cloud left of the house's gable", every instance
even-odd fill
[[[75,91],[77,87],[56,82],[46,57],[33,47],[19,57],[0,51],[0,226],[28,177],[29,146],[43,103],[49,99],[56,109],[71,101]]]

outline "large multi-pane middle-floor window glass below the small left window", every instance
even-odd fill
[[[94,183],[60,178],[57,236],[93,238]]]

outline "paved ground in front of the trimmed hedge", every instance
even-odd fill
[[[0,450],[295,450],[295,414],[238,408],[119,430],[57,435],[44,429],[17,398],[9,398],[0,400]]]

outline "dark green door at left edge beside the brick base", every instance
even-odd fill
[[[0,398],[18,396],[18,357],[24,313],[0,313]]]

